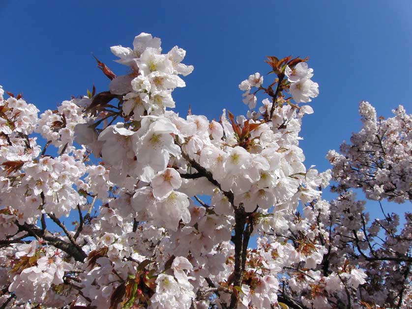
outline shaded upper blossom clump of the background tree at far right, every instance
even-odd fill
[[[343,143],[340,152],[329,151],[333,177],[341,187],[362,188],[367,198],[403,203],[412,198],[412,117],[400,105],[394,117],[377,118],[368,102],[359,104],[363,127]]]

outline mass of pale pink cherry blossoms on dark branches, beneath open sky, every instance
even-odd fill
[[[97,60],[109,90],[40,117],[0,88],[0,308],[411,308],[411,214],[398,231],[351,191],[411,199],[403,107],[384,120],[362,102],[362,130],[319,173],[298,143],[319,94],[306,58],[268,57],[274,80],[239,85],[247,115],[209,121],[171,110],[193,66],[160,45],[112,47],[128,74]]]

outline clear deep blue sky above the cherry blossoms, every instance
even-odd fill
[[[189,104],[209,118],[245,113],[237,85],[268,72],[265,56],[309,56],[320,95],[301,133],[308,167],[329,168],[327,150],[360,127],[360,100],[385,117],[398,104],[412,110],[410,0],[0,0],[0,18],[0,84],[42,111],[93,83],[106,90],[91,53],[124,72],[109,47],[131,46],[140,32],[160,37],[164,51],[187,51],[195,70],[174,92],[183,115]]]

